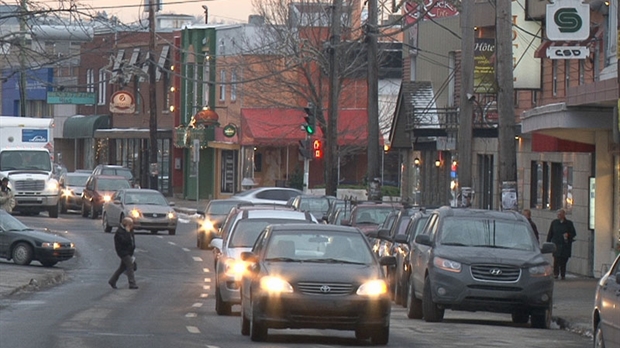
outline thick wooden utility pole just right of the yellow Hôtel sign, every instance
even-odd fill
[[[513,183],[513,187],[516,189],[517,151],[514,115],[512,1],[497,0],[495,9],[499,182],[502,187],[505,184]]]

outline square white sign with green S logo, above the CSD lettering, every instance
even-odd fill
[[[547,38],[583,41],[590,36],[590,5],[581,0],[555,0],[547,4]]]

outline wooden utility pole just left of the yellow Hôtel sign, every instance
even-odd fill
[[[472,127],[474,98],[474,0],[463,0],[461,9],[461,91],[459,99],[458,164],[461,202],[471,204]]]

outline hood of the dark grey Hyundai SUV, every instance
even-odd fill
[[[442,246],[435,248],[434,254],[435,256],[447,258],[468,265],[492,263],[498,265],[529,267],[531,265],[547,263],[543,255],[538,251]]]

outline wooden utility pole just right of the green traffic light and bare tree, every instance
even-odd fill
[[[368,198],[371,199],[371,184],[380,177],[381,159],[379,154],[379,62],[377,60],[378,34],[377,0],[368,0],[368,20],[366,40],[368,44]],[[379,187],[380,190],[380,187]],[[380,191],[379,191],[380,192]],[[379,193],[380,196],[380,193]]]

